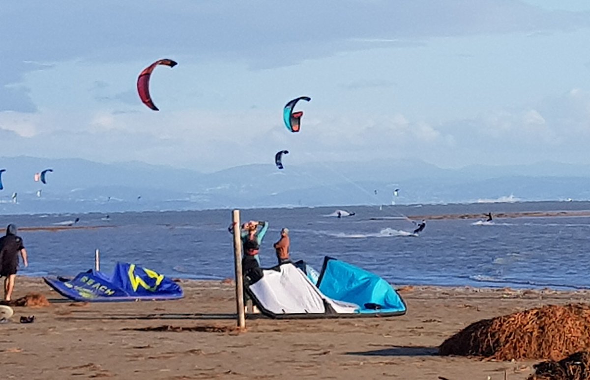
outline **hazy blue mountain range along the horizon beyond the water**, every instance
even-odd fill
[[[2,157],[1,168],[4,214],[590,199],[590,166],[560,163],[448,169],[398,160],[284,170],[252,164],[200,173],[139,162]],[[35,182],[45,168],[53,169],[47,184]]]

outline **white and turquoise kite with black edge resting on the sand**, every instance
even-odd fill
[[[304,264],[303,264],[304,265]],[[301,263],[297,263],[301,267]],[[245,289],[271,318],[341,318],[403,315],[401,296],[381,277],[326,257],[317,284],[293,263],[262,269]]]

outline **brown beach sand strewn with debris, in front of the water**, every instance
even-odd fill
[[[247,320],[235,331],[234,286],[183,280],[185,298],[71,303],[42,279],[18,277],[15,296],[40,292],[52,305],[14,308],[0,324],[4,379],[526,379],[539,361],[494,362],[436,355],[480,319],[584,302],[589,291],[401,288],[408,306],[391,318]],[[21,316],[35,315],[31,324]],[[192,331],[137,331],[171,325]]]

